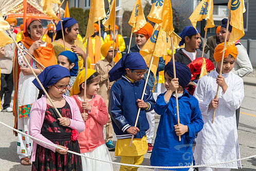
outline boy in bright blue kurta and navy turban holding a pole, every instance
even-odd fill
[[[153,166],[192,165],[192,142],[204,125],[196,98],[191,96],[185,86],[191,80],[191,72],[185,64],[175,62],[176,79],[173,76],[173,63],[164,67],[167,91],[157,97],[154,110],[160,115],[156,139],[150,158]],[[179,126],[177,125],[177,106],[175,89],[178,91]],[[178,136],[181,141],[178,141]],[[162,170],[162,169],[155,169]],[[193,170],[183,168],[175,170]]]

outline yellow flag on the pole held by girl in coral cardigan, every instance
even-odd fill
[[[106,17],[104,0],[92,0],[90,2],[89,19],[84,42],[94,34],[94,23]],[[100,26],[99,26],[100,27]]]

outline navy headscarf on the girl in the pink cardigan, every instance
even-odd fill
[[[64,77],[70,77],[70,74],[67,68],[60,65],[48,66],[38,75],[38,78],[46,91],[48,90],[49,86],[56,84],[60,79]],[[42,90],[36,79],[34,79],[32,83],[39,90]]]

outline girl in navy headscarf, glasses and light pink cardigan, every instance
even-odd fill
[[[43,96],[32,104],[29,135],[65,150],[34,141],[32,170],[82,170],[81,157],[67,153],[68,149],[80,153],[78,132],[85,128],[76,101],[64,95],[69,88],[69,71],[60,65],[52,65],[46,67],[38,78],[62,118],[52,107],[49,99]],[[32,83],[42,90],[38,81],[34,79]]]

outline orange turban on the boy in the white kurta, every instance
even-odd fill
[[[218,44],[217,47],[214,49],[214,60],[216,62],[220,62],[222,60],[222,52],[223,52],[223,48],[224,48],[224,42],[221,44]],[[237,48],[235,47],[235,45],[231,45],[229,46],[229,48],[227,48],[225,50],[225,54],[224,54],[224,59],[228,57],[228,55],[232,55],[234,57],[234,59],[236,59],[237,57]]]

